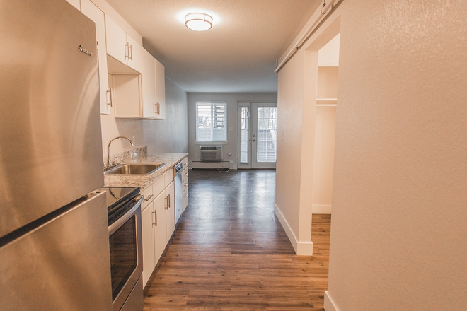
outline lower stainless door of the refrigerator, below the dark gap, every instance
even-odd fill
[[[112,310],[105,192],[3,245],[0,276],[1,310]]]

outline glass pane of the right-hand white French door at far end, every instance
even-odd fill
[[[261,163],[276,162],[277,143],[277,107],[258,107],[256,161]]]

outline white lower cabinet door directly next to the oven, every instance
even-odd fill
[[[143,240],[143,287],[154,271],[154,205],[151,202],[141,213]]]

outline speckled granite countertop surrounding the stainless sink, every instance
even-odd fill
[[[104,175],[105,187],[140,187],[144,189],[168,170],[173,169],[175,164],[188,156],[188,153],[154,153],[139,155],[136,158],[125,160],[125,163],[167,163],[161,169],[150,175]]]

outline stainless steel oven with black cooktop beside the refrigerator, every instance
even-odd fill
[[[108,207],[113,310],[143,310],[141,204],[144,196],[139,195],[139,188],[125,187],[110,187],[109,195],[110,200],[115,200]]]

